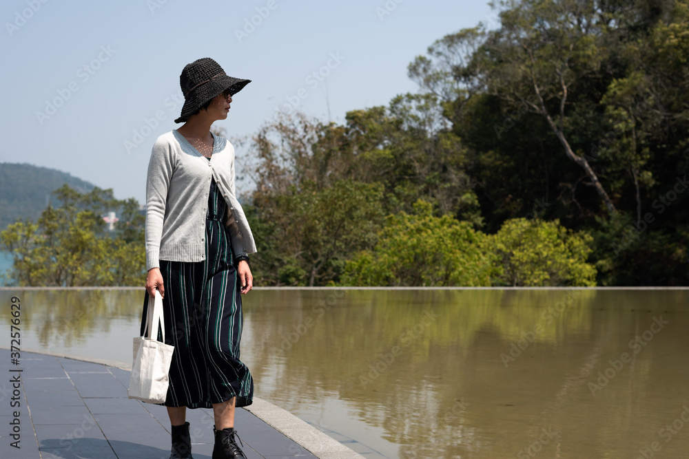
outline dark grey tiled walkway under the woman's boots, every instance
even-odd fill
[[[17,378],[21,385],[15,389],[12,381]],[[10,351],[0,349],[0,458],[169,458],[167,409],[127,398],[129,380],[127,370],[28,352],[21,352],[15,366]],[[259,416],[260,409],[272,406],[257,402]],[[212,409],[187,409],[187,420],[194,458],[210,459]],[[309,451],[246,409],[236,410],[235,423],[249,459],[362,457],[322,437],[309,442]],[[292,425],[299,423],[303,421],[294,418]],[[19,430],[14,438],[13,429]],[[17,439],[21,449],[12,447]]]

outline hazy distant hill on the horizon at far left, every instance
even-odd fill
[[[74,189],[94,189],[90,182],[56,169],[0,162],[0,231],[18,218],[36,221],[49,200],[54,204],[52,191],[65,183]]]

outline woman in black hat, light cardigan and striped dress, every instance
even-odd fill
[[[239,360],[241,294],[251,291],[254,237],[234,186],[234,148],[210,127],[227,118],[232,96],[250,80],[227,76],[211,58],[184,67],[179,129],[158,137],[146,182],[146,279],[163,296],[165,341],[174,345],[167,406],[170,458],[192,458],[186,409],[213,408],[213,459],[245,458],[234,409],[250,405],[254,381]]]

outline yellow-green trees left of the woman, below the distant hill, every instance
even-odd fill
[[[19,220],[0,233],[12,253],[10,283],[18,286],[132,286],[145,279],[143,215],[135,200],[119,201],[112,190],[54,191],[62,203],[39,220]],[[101,215],[116,211],[116,231]]]

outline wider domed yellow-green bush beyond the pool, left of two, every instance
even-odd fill
[[[387,217],[373,250],[347,261],[343,285],[489,286],[494,260],[487,237],[469,222],[433,215],[418,200],[414,213]]]

